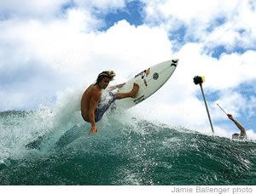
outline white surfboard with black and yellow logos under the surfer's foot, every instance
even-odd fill
[[[132,106],[136,106],[143,100],[146,100],[167,82],[175,71],[177,63],[177,59],[167,60],[160,64],[150,66],[137,73],[134,77],[131,77],[131,79],[128,80],[122,88],[119,88],[117,92],[130,92],[133,87],[133,83],[137,83],[140,86],[137,97],[116,100],[116,107],[121,109],[130,109]]]

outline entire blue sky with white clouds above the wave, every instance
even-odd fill
[[[236,126],[216,103],[255,137],[252,18],[256,3],[250,0],[25,0],[22,7],[3,0],[0,111],[55,106],[67,91],[81,93],[100,71],[113,69],[114,82],[125,82],[148,66],[179,58],[170,81],[131,113],[211,132],[193,83],[201,75],[217,133],[229,136]]]

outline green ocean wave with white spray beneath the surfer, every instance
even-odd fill
[[[106,113],[0,112],[0,185],[256,185],[256,142]]]

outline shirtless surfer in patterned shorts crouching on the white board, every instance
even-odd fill
[[[96,83],[91,84],[89,88],[84,91],[81,99],[81,113],[85,122],[91,124],[89,134],[95,134],[98,131],[96,123],[101,120],[102,116],[108,111],[109,106],[115,101],[124,98],[136,98],[139,85],[133,83],[133,88],[128,93],[114,94],[109,92],[108,100],[102,100],[102,89],[108,87],[108,83],[113,80],[115,73],[113,71],[102,71],[97,77]],[[110,90],[121,88],[125,83],[110,87]]]

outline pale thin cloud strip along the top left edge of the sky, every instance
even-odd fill
[[[10,18],[55,20],[65,17],[67,9],[82,9],[85,12],[106,13],[125,7],[125,0],[2,0],[0,19]]]

